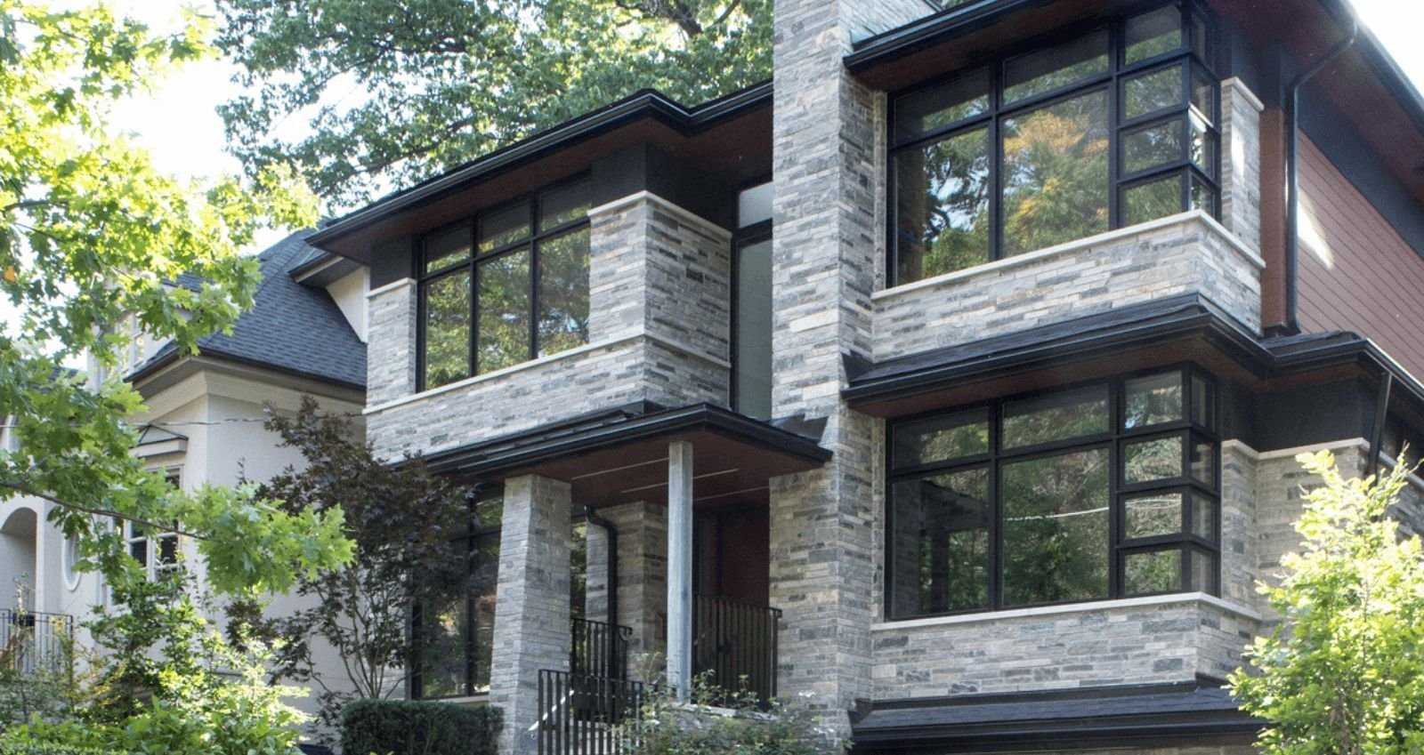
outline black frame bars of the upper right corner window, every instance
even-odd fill
[[[1182,17],[1182,44],[1169,53],[1162,53],[1151,58],[1143,58],[1132,64],[1125,63],[1126,55],[1126,40],[1125,28],[1126,21],[1132,17],[1151,13],[1169,6],[1180,7]],[[1202,60],[1198,55],[1198,45],[1193,34],[1196,27],[1193,18],[1202,18],[1205,33],[1210,47],[1205,50],[1206,55],[1212,60]],[[1108,30],[1108,73],[1095,74],[1092,77],[1079,80],[1074,84],[1058,87],[1051,91],[1040,92],[1032,97],[1017,100],[1010,105],[1004,104],[1004,65],[1010,60],[1051,48],[1057,44],[1072,41],[1081,38],[1087,34],[1092,34],[1099,28]],[[988,259],[985,263],[1008,259],[1002,253],[1002,240],[1000,239],[1002,229],[1002,175],[1004,175],[1004,151],[1001,145],[1001,124],[1005,119],[1011,119],[1017,115],[1041,109],[1044,107],[1051,107],[1058,102],[1072,100],[1075,97],[1082,97],[1095,88],[1106,88],[1108,92],[1108,230],[1116,230],[1128,227],[1125,223],[1125,210],[1122,196],[1126,189],[1134,186],[1149,183],[1151,179],[1166,178],[1168,175],[1182,175],[1182,205],[1183,208],[1190,206],[1192,196],[1192,181],[1202,181],[1212,189],[1212,202],[1206,208],[1213,218],[1220,218],[1220,203],[1222,203],[1222,188],[1220,188],[1220,164],[1222,164],[1222,97],[1220,97],[1220,80],[1215,73],[1213,63],[1220,57],[1220,31],[1215,16],[1200,7],[1200,0],[1146,0],[1129,9],[1124,9],[1119,14],[1104,21],[1102,18],[1092,18],[1087,21],[1079,21],[1051,34],[1042,34],[1034,37],[1021,44],[1012,47],[1001,48],[994,57],[987,61],[981,61],[978,65],[958,68],[950,74],[931,78],[916,84],[914,87],[890,92],[889,97],[889,118],[887,128],[884,129],[884,145],[886,145],[886,287],[894,287],[904,283],[913,282],[899,282],[899,260],[897,260],[897,235],[899,235],[899,218],[897,212],[897,198],[896,198],[896,156],[900,152],[910,149],[921,149],[931,144],[943,142],[963,134],[977,131],[980,128],[987,129],[985,138],[988,139]],[[1165,70],[1172,65],[1182,65],[1185,68],[1185,81],[1182,100],[1168,108],[1162,108],[1152,114],[1143,114],[1141,117],[1126,119],[1124,118],[1124,98],[1122,98],[1122,84],[1128,78],[1136,77],[1139,74],[1152,73],[1153,70]],[[931,88],[940,87],[957,78],[971,75],[980,70],[988,70],[988,109],[987,112],[973,115],[968,118],[961,118],[951,124],[946,124],[937,129],[920,134],[909,139],[896,139],[894,135],[894,105],[896,101],[913,95],[921,91],[928,91]],[[1208,172],[1200,171],[1192,161],[1190,155],[1186,159],[1176,161],[1171,166],[1159,165],[1148,171],[1139,172],[1136,175],[1125,175],[1121,172],[1121,152],[1122,152],[1122,134],[1132,131],[1134,128],[1142,127],[1143,124],[1153,119],[1171,119],[1180,117],[1186,122],[1183,128],[1190,131],[1190,114],[1192,107],[1192,84],[1195,81],[1195,73],[1205,73],[1213,85],[1213,112],[1203,114],[1208,124],[1208,134],[1215,139],[1216,151],[1212,169],[1215,176],[1208,175]],[[1183,145],[1188,148],[1186,145]],[[1189,149],[1189,148],[1188,148]],[[1183,210],[1185,212],[1185,210]],[[1032,252],[1032,250],[1030,250]],[[965,267],[965,269],[973,269]],[[934,276],[926,276],[934,277]],[[924,279],[917,279],[924,280]]]

